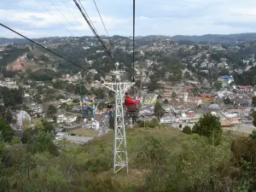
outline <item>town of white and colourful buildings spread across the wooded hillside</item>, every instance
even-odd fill
[[[247,42],[229,46],[188,45],[158,36],[151,37],[148,43],[148,38],[137,37],[136,89],[129,90],[133,96],[143,98],[138,119],[157,117],[155,103],[158,102],[161,106],[158,110],[164,111],[158,117],[160,123],[173,128],[182,130],[186,125],[193,127],[203,113],[212,113],[219,117],[221,125],[226,129],[239,128],[245,132],[254,129],[252,113],[256,106],[252,101],[256,90],[254,82],[246,82],[241,77],[246,73],[253,73],[255,56],[239,55],[248,47]],[[131,38],[112,40],[116,54],[131,55]],[[108,43],[107,38],[104,41]],[[76,54],[87,51],[90,53],[88,57],[79,56],[83,56],[80,59],[88,67],[89,73],[73,69],[68,73],[66,64],[33,44],[3,44],[0,49],[3,61],[0,85],[9,90],[22,90],[20,109],[29,113],[33,119],[48,119],[55,123],[56,129],[79,127],[83,124],[80,98],[89,92],[97,98],[95,113],[99,116],[97,119],[101,119],[104,108],[108,103],[113,104],[113,100],[109,91],[102,86],[100,77],[113,82],[111,71],[114,66],[102,64],[108,62],[108,58],[99,48],[96,39],[46,38],[38,43],[56,51],[61,49],[67,55],[75,54],[73,51]],[[6,59],[6,55],[12,51],[16,53],[17,50],[22,55],[17,55],[17,58],[13,58],[14,61]],[[131,81],[129,57],[120,61],[120,65],[126,71],[122,74],[122,79],[125,82]],[[103,67],[103,74],[98,73],[100,67]],[[3,106],[13,113],[12,122],[15,122],[19,110],[12,109],[12,104],[6,103],[3,96],[1,100]],[[49,106],[55,108],[54,113],[49,113]],[[12,125],[15,127],[15,124]]]

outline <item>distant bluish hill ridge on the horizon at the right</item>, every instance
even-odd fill
[[[212,44],[235,44],[236,41],[247,41],[256,39],[254,33],[238,33],[230,35],[202,35],[202,36],[183,36],[177,35],[172,37],[175,41],[192,41],[196,43],[212,43]]]

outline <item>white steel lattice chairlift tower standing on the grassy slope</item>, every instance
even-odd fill
[[[125,71],[118,70],[119,63],[116,63],[115,83],[103,83],[103,86],[115,92],[114,105],[114,137],[113,137],[113,173],[119,172],[126,166],[128,172],[128,154],[126,149],[125,118],[123,108],[123,91],[135,83],[120,82],[120,75]]]

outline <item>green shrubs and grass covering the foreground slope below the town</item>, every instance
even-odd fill
[[[214,121],[210,114],[202,117],[192,135],[158,125],[155,119],[141,125],[151,128],[128,129],[130,171],[117,175],[112,173],[113,131],[82,146],[62,141],[58,149],[52,127],[44,121],[26,131],[26,145],[17,137],[4,140],[2,133],[1,191],[255,190],[255,132],[241,137],[222,133],[213,124],[202,131],[201,123],[209,119]],[[2,132],[8,129],[3,124]],[[209,142],[215,137],[221,137],[218,143]]]

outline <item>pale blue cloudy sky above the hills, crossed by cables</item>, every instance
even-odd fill
[[[93,0],[80,0],[106,35]],[[95,0],[109,36],[132,36],[132,0]],[[1,0],[0,20],[28,38],[92,35],[73,0]],[[255,0],[136,0],[136,36],[256,32]],[[0,26],[0,37],[19,38]]]

